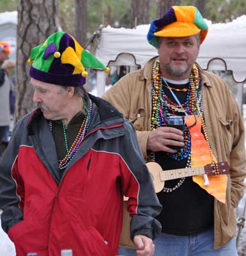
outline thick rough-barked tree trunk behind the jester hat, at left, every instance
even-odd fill
[[[19,0],[15,121],[34,107],[27,60],[33,47],[58,31],[58,9],[58,0]]]

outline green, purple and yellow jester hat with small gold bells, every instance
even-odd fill
[[[85,68],[109,72],[109,68],[63,31],[50,35],[43,44],[31,49],[27,62],[31,64],[31,77],[62,86],[83,86],[88,76]]]

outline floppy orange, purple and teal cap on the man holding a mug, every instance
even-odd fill
[[[148,42],[158,48],[159,37],[183,37],[201,35],[201,44],[208,33],[208,25],[195,6],[172,6],[162,18],[152,20]]]

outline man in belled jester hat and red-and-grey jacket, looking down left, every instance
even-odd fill
[[[1,223],[17,255],[118,255],[123,195],[132,241],[153,255],[162,207],[134,128],[82,87],[85,68],[107,68],[65,32],[28,62],[37,109],[17,123],[0,164]]]

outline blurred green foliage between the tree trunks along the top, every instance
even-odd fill
[[[100,24],[130,28],[131,1],[135,0],[87,0],[87,37],[90,38]],[[193,5],[197,1],[202,0],[180,0],[180,5]],[[1,12],[17,10],[17,4],[18,0],[1,0],[0,10]],[[59,9],[61,28],[73,34],[76,29],[73,0],[59,0]],[[245,0],[206,0],[204,17],[212,22],[225,22],[245,14],[245,10]],[[150,0],[150,20],[155,18],[157,18],[157,0]]]

